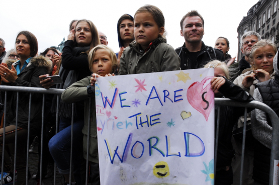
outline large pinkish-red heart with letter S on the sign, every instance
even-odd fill
[[[201,83],[196,81],[192,83],[187,90],[188,102],[194,109],[204,115],[206,121],[214,107],[214,92],[210,88],[211,83],[208,83],[204,88],[203,86],[208,80],[211,80],[211,78],[212,77],[206,77]]]

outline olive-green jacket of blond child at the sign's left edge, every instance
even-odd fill
[[[87,86],[90,84],[90,77],[87,76],[66,88],[61,99],[65,103],[74,103],[84,100],[84,127],[83,133],[83,157],[86,159],[87,153],[87,131],[88,131],[88,107],[89,97],[87,95]],[[97,121],[96,121],[96,104],[95,97],[91,98],[90,109],[90,132],[89,132],[89,161],[99,163],[98,140],[97,140]]]

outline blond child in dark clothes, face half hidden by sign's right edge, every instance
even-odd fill
[[[230,79],[230,74],[225,62],[213,60],[205,65],[205,68],[208,67],[214,68],[211,88],[214,91],[215,98],[229,98],[239,102],[251,102],[254,100],[244,89],[228,80]],[[217,126],[218,107],[219,106],[215,106],[215,129]],[[248,109],[248,112],[249,111],[251,111],[251,109]],[[235,152],[231,143],[231,137],[233,126],[243,113],[244,108],[220,106],[220,126],[215,176],[216,185],[233,183],[231,162],[232,158],[235,157]]]

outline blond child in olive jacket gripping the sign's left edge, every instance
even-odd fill
[[[112,76],[117,66],[117,58],[114,51],[105,45],[98,45],[91,49],[88,53],[88,63],[91,72],[97,77]],[[83,133],[83,157],[86,159],[87,154],[87,137],[89,137],[89,157],[90,161],[90,177],[91,184],[100,184],[99,176],[99,157],[98,157],[98,141],[97,141],[97,123],[96,123],[96,105],[95,105],[95,89],[90,85],[90,77],[87,76],[80,81],[73,83],[66,88],[61,96],[65,103],[74,103],[84,100],[84,127]],[[89,108],[90,102],[90,113]],[[90,132],[87,135],[88,116],[90,114]]]

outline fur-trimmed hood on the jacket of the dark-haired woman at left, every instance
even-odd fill
[[[18,64],[17,62],[13,63],[14,66],[17,64]],[[34,65],[35,67],[45,67],[47,68],[48,73],[51,73],[53,68],[52,61],[41,55],[37,57],[33,57],[26,67],[29,67],[31,65]]]

